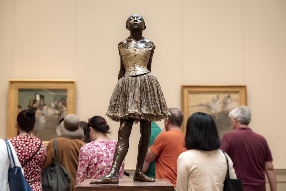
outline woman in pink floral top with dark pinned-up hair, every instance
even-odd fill
[[[85,179],[98,179],[107,174],[111,168],[117,143],[107,136],[110,131],[104,118],[94,116],[88,120],[88,126],[92,142],[80,149],[76,184]],[[123,171],[124,161],[120,167],[119,178],[123,178]]]

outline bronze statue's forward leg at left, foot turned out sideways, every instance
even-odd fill
[[[108,174],[102,176],[101,178],[91,181],[90,184],[118,184],[120,166],[129,148],[129,137],[131,134],[133,121],[134,120],[132,118],[120,120],[118,142],[116,144],[110,171]]]

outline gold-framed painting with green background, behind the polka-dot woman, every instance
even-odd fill
[[[35,111],[35,136],[47,144],[58,137],[57,122],[76,112],[74,79],[9,79],[7,138],[17,136],[17,115],[22,110]]]

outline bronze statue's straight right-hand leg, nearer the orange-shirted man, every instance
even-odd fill
[[[140,120],[140,141],[138,145],[138,156],[135,174],[133,177],[134,181],[140,182],[155,182],[154,178],[150,178],[143,174],[143,164],[149,148],[150,133],[151,133],[151,122],[148,120]]]

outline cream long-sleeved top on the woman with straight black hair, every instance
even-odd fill
[[[230,178],[237,178],[233,162],[229,161]],[[223,191],[227,174],[227,161],[219,149],[213,151],[188,150],[177,160],[178,191]]]

